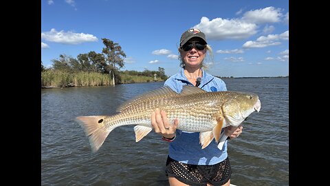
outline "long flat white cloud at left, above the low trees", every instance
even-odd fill
[[[74,44],[74,45],[85,42],[98,41],[98,38],[92,34],[74,33],[71,31],[64,32],[63,30],[58,32],[54,28],[52,28],[50,32],[42,32],[41,39],[45,39],[45,41],[51,41],[54,43]]]

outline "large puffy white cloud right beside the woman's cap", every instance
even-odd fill
[[[246,23],[239,19],[215,18],[210,21],[202,17],[201,22],[194,26],[206,34],[206,39],[245,39],[256,34],[256,24]]]

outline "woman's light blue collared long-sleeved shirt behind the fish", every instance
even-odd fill
[[[207,74],[203,69],[201,84],[198,86],[207,92],[226,91],[225,82],[221,79]],[[179,93],[183,85],[192,85],[184,75],[184,69],[170,76],[164,85],[170,87]],[[193,86],[193,85],[192,85]],[[180,121],[179,121],[180,125]],[[168,156],[181,163],[192,165],[214,165],[224,161],[228,157],[227,141],[225,141],[222,150],[217,147],[217,142],[213,139],[210,145],[201,149],[199,144],[199,132],[185,132],[177,130],[174,141],[169,143]]]

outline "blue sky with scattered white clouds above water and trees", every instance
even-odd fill
[[[122,70],[179,71],[182,32],[199,28],[213,50],[215,76],[289,75],[289,2],[222,0],[43,0],[41,61],[122,46]],[[211,63],[212,62],[212,63]]]

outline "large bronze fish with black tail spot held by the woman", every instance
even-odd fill
[[[98,151],[109,133],[122,125],[134,127],[135,141],[140,141],[152,130],[151,113],[156,108],[164,110],[171,123],[178,118],[177,129],[200,132],[201,148],[215,139],[221,149],[227,136],[221,129],[239,126],[261,103],[254,93],[206,92],[199,87],[184,85],[177,94],[170,87],[160,87],[135,97],[118,108],[113,116],[78,116],[76,121],[85,129],[93,152]]]

